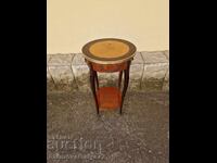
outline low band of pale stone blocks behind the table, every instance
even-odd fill
[[[100,86],[117,85],[118,73],[99,73]],[[89,68],[81,53],[48,54],[49,90],[90,91]],[[128,90],[168,91],[169,51],[137,52],[130,66]]]

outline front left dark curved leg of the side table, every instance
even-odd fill
[[[99,114],[99,103],[95,93],[95,71],[92,70],[92,65],[90,64],[90,87],[94,97],[97,113]]]

